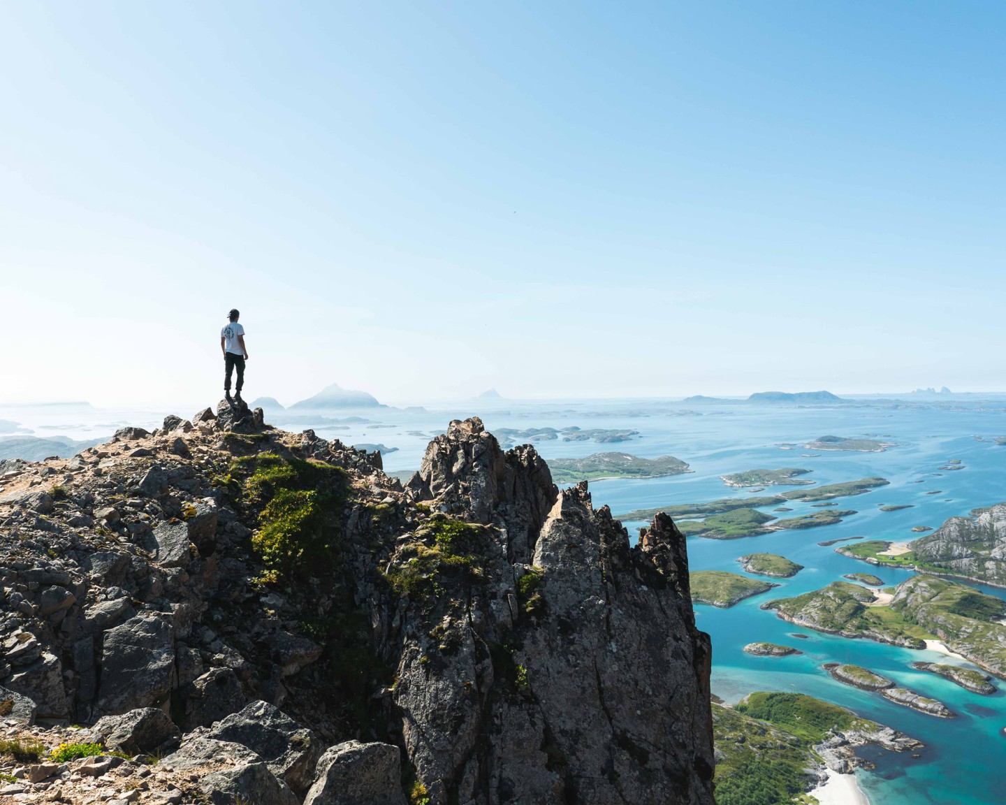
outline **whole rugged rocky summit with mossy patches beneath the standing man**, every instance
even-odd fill
[[[222,401],[3,468],[0,801],[712,803],[685,539],[530,446]]]

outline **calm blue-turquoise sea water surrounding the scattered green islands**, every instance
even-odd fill
[[[955,397],[954,401],[959,405],[919,406],[913,400],[907,407],[877,404],[863,408],[808,409],[736,404],[690,410],[683,404],[649,400],[534,405],[480,401],[454,410],[443,407],[427,412],[357,412],[369,422],[348,425],[321,420],[288,423],[283,416],[272,420],[288,430],[314,427],[320,436],[339,438],[348,444],[381,443],[397,448],[385,455],[388,471],[416,469],[431,436],[443,432],[450,419],[473,414],[481,416],[490,430],[575,426],[639,432],[631,441],[616,444],[534,442],[545,459],[618,450],[647,458],[669,454],[691,465],[694,472],[688,475],[593,483],[595,505],[608,504],[616,514],[636,508],[748,496],[749,491],[727,488],[719,476],[754,468],[803,467],[813,470],[807,477],[818,484],[870,475],[886,478],[889,486],[839,499],[842,508],[856,509],[858,513],[837,525],[735,540],[689,540],[692,570],[739,573],[735,559],[753,551],[782,553],[806,566],[793,579],[776,580],[781,583],[780,588],[731,609],[696,607],[699,626],[712,636],[713,692],[728,702],[752,690],[806,692],[850,707],[925,742],[927,748],[918,759],[879,750],[865,753],[876,769],[860,772],[858,779],[874,805],[998,805],[1006,801],[1006,776],[1001,774],[1006,757],[1006,740],[1001,732],[1006,727],[1006,694],[1002,689],[991,696],[980,696],[909,667],[914,660],[966,664],[935,652],[819,634],[795,628],[774,613],[759,609],[766,600],[816,590],[848,573],[873,572],[887,585],[910,576],[904,571],[878,570],[846,558],[836,553],[834,547],[820,546],[818,542],[860,535],[910,540],[918,536],[910,530],[912,526],[936,528],[948,517],[1006,500],[1006,447],[992,441],[1006,436],[1006,403],[1000,399],[981,404],[966,397]],[[192,408],[194,411],[195,407]],[[168,413],[173,412],[0,409],[0,419],[18,421],[37,436],[60,434],[87,439],[105,436],[127,423],[152,427]],[[347,415],[328,412],[325,416]],[[803,454],[815,451],[805,450],[802,445],[823,435],[876,435],[897,446],[883,453],[833,452],[805,458]],[[779,447],[781,443],[793,443],[796,447],[783,450]],[[965,469],[955,472],[939,469],[952,459],[959,459]],[[785,487],[780,491],[785,491]],[[928,494],[935,491],[938,493]],[[904,503],[913,507],[894,512],[878,509],[880,505]],[[794,511],[786,516],[818,510],[806,503],[788,505]],[[633,534],[644,524],[626,523]],[[981,589],[1006,598],[1006,590]],[[805,635],[806,639],[794,638],[795,633]],[[793,645],[805,653],[781,659],[752,657],[741,648],[753,640]],[[944,701],[960,715],[952,720],[935,718],[835,682],[821,668],[832,661],[868,667]],[[999,685],[1006,689],[1006,682]]]

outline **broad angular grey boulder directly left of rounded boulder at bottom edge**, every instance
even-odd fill
[[[302,728],[278,707],[261,700],[217,721],[208,735],[253,750],[269,764],[278,779],[299,794],[314,780],[315,766],[322,752],[314,733]]]

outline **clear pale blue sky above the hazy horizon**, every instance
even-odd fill
[[[0,401],[1002,389],[1006,5],[0,5]]]

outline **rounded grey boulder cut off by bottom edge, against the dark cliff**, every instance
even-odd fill
[[[347,741],[318,762],[304,805],[406,805],[400,752],[390,744]]]

